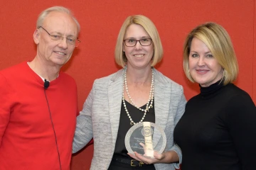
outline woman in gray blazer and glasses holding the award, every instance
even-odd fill
[[[154,69],[162,56],[154,23],[145,16],[129,16],[115,49],[115,61],[123,69],[95,80],[77,118],[73,152],[85,147],[93,137],[90,169],[178,168],[181,150],[174,144],[173,132],[183,115],[186,98],[181,85]],[[144,121],[163,128],[167,143],[162,154],[138,162],[142,159],[127,154],[124,137],[132,125]]]

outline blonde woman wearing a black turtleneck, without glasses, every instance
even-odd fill
[[[227,31],[217,23],[194,28],[185,41],[183,67],[201,93],[188,101],[174,130],[182,170],[255,169],[255,103],[233,84],[238,62]]]

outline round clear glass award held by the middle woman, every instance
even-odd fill
[[[125,147],[131,154],[137,152],[144,157],[154,158],[154,151],[161,154],[166,147],[164,130],[151,122],[133,125],[125,136]]]

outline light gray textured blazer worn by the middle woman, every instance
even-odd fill
[[[122,104],[124,69],[108,77],[96,79],[82,111],[77,118],[73,153],[85,147],[94,139],[94,154],[90,169],[108,169],[117,140],[119,117]],[[166,151],[178,153],[181,163],[181,149],[174,145],[174,127],[184,113],[186,98],[183,87],[154,69],[154,109],[156,125],[166,133]],[[156,169],[174,170],[178,164],[154,164]]]

